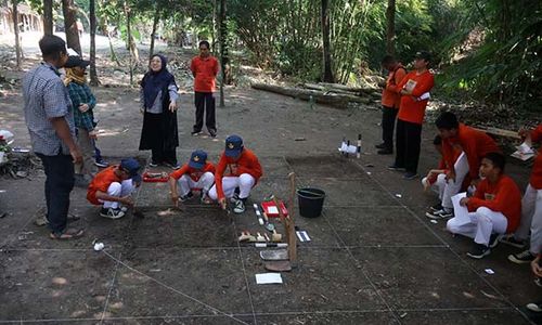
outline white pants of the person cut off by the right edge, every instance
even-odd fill
[[[521,221],[514,234],[519,240],[525,240],[531,232],[531,247],[529,250],[538,255],[542,248],[542,188],[537,190],[530,184],[525,190],[521,199]]]

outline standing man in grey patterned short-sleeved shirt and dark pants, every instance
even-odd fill
[[[46,35],[39,41],[43,62],[23,78],[25,120],[33,150],[46,171],[47,219],[52,239],[80,237],[82,230],[67,229],[69,192],[74,187],[74,164],[82,162],[77,147],[67,88],[59,68],[68,55],[63,39]]]

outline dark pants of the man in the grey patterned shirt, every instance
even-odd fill
[[[74,188],[74,162],[69,155],[40,157],[46,170],[47,220],[53,233],[66,229],[69,210],[69,192]]]

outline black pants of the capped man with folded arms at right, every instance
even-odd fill
[[[422,125],[397,119],[396,164],[406,172],[416,172],[422,143]]]

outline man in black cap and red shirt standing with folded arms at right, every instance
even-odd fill
[[[422,125],[430,96],[429,91],[435,82],[433,74],[427,69],[430,57],[428,52],[417,52],[414,61],[415,70],[404,76],[397,86],[397,92],[401,95],[397,115],[397,153],[396,161],[388,168],[405,170],[403,178],[408,180],[417,177]]]

